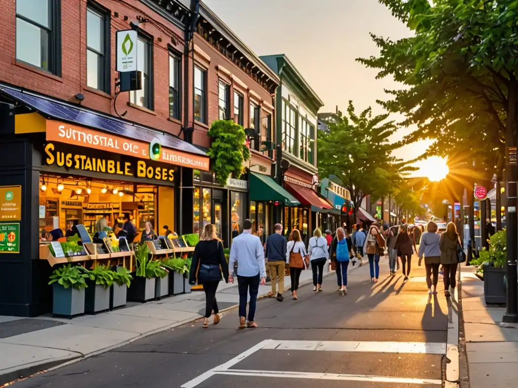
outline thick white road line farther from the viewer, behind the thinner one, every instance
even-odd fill
[[[446,345],[438,342],[304,340],[270,340],[263,349],[420,354],[446,354],[447,351]]]

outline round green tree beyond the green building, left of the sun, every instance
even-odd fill
[[[371,195],[387,195],[412,168],[392,156],[400,143],[389,138],[397,130],[388,114],[372,117],[371,108],[357,115],[349,101],[347,115],[339,112],[327,122],[329,132],[318,131],[318,166],[351,192],[354,211]]]

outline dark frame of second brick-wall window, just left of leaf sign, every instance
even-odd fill
[[[104,44],[104,53],[99,53],[94,49],[90,49],[88,47],[88,11],[89,9],[93,13],[97,13],[99,16],[103,17],[103,40]],[[111,12],[107,8],[94,3],[92,1],[88,1],[87,3],[87,22],[85,22],[87,26],[87,56],[88,50],[95,52],[97,55],[103,56],[103,64],[99,66],[97,64],[97,71],[103,74],[103,80],[101,82],[101,88],[95,87],[98,91],[104,92],[106,94],[111,94]],[[98,74],[97,74],[98,77]],[[97,81],[98,82],[98,81]],[[88,61],[87,61],[87,86],[88,86]],[[93,87],[93,86],[88,86]]]

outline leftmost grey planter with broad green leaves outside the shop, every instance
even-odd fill
[[[54,316],[72,318],[84,314],[84,289],[88,287],[88,278],[88,272],[79,265],[67,264],[52,271],[49,285],[53,285]]]

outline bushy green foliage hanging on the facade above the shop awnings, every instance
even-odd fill
[[[245,144],[247,135],[242,126],[230,120],[214,121],[208,135],[212,139],[208,152],[211,169],[218,183],[225,186],[231,174],[235,178],[241,176],[243,161],[250,158]]]

